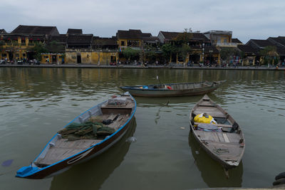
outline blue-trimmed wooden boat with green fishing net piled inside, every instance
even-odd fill
[[[54,176],[73,164],[97,156],[118,142],[128,131],[131,121],[134,120],[135,110],[136,102],[130,93],[114,96],[95,105],[57,132],[28,167],[22,167],[17,171],[16,177],[42,179]],[[87,125],[92,127],[84,127]],[[74,130],[71,128],[73,126],[81,127]],[[80,130],[75,132],[78,129]],[[79,136],[81,134],[83,136]]]

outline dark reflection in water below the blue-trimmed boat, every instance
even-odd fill
[[[73,166],[63,174],[53,177],[51,189],[100,189],[108,176],[123,162],[125,154],[130,148],[130,142],[126,142],[126,139],[133,136],[135,127],[134,118],[126,134],[113,147],[98,157]]]

